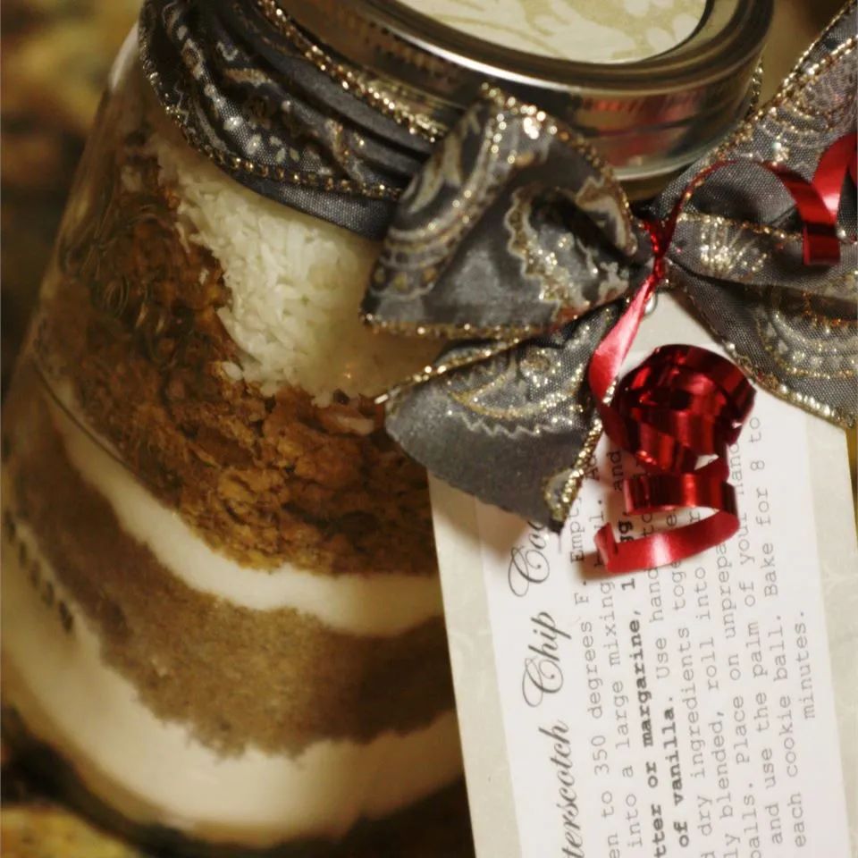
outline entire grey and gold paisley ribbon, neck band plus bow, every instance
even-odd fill
[[[215,160],[266,196],[385,234],[366,292],[367,323],[448,341],[435,364],[391,391],[386,404],[391,436],[434,474],[536,521],[565,519],[601,431],[587,366],[652,274],[648,223],[676,210],[694,178],[723,162],[734,163],[683,199],[663,258],[666,280],[763,387],[854,424],[854,193],[840,207],[839,263],[809,267],[792,199],[759,169],[784,164],[811,181],[820,155],[854,131],[854,3],[767,105],[636,212],[575,130],[496,89],[485,88],[432,148],[431,134],[367,114],[366,101],[344,104],[294,40],[292,47],[276,42],[267,19],[263,29],[264,16],[242,13],[246,44],[239,46],[218,29],[221,18],[191,0],[148,5],[150,77],[192,143],[221,153]],[[216,46],[199,40],[191,49],[189,33],[197,30],[189,15]],[[173,73],[159,56],[181,56],[193,73]],[[217,80],[223,92],[206,95]],[[248,120],[251,96],[260,93],[291,105],[267,118],[267,137]],[[241,120],[232,131],[223,122],[230,115]],[[291,179],[270,172],[278,157],[272,134],[294,144]],[[223,153],[238,153],[239,161]],[[242,169],[245,160],[257,165]],[[314,187],[317,179],[307,177],[318,176],[331,181]],[[405,190],[380,196],[380,186]]]

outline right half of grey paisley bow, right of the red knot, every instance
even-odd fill
[[[742,161],[785,164],[810,180],[820,154],[854,132],[855,32],[852,4],[769,104],[655,206],[664,216],[694,173],[719,159],[739,162],[712,174],[686,206],[670,281],[758,383],[843,425],[854,423],[858,383],[854,184],[840,207],[840,265],[811,268],[802,264],[792,199],[773,176]]]

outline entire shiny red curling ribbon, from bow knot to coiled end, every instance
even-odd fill
[[[820,158],[812,181],[780,164],[749,162],[777,176],[792,196],[803,225],[805,265],[832,265],[840,259],[837,212],[847,173],[854,179],[856,146],[854,133],[837,139]],[[602,526],[595,543],[611,573],[685,559],[729,539],[739,526],[736,492],[727,482],[726,452],[750,413],[754,393],[736,366],[707,349],[662,346],[618,383],[608,403],[646,305],[664,279],[665,258],[682,207],[713,172],[735,163],[719,161],[702,170],[665,221],[647,224],[652,273],[590,362],[587,377],[605,433],[647,471],[623,482],[627,515],[683,507],[714,510],[689,525],[627,542],[618,543],[611,526]],[[702,456],[714,458],[698,467]]]

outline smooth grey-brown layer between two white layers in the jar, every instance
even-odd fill
[[[393,638],[357,637],[183,584],[80,478],[33,385],[21,367],[7,406],[14,515],[97,630],[105,661],[157,716],[222,753],[248,744],[294,753],[322,738],[405,733],[452,709],[441,618]]]

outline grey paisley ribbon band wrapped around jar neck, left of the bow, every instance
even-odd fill
[[[383,235],[428,130],[355,97],[264,4],[147,0],[139,33],[144,70],[191,146],[265,197]]]

